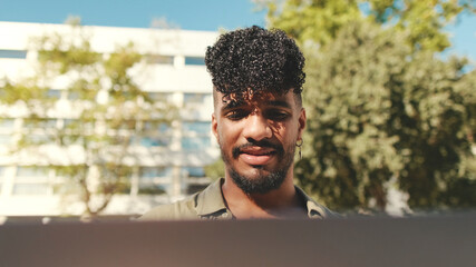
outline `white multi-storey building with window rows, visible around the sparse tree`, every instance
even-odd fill
[[[30,49],[30,39],[69,30],[65,24],[0,22],[0,77],[14,81],[33,75],[38,53]],[[146,71],[137,71],[137,82],[150,97],[165,97],[181,110],[165,140],[163,136],[159,140],[140,142],[140,165],[130,177],[132,188],[136,190],[116,195],[104,214],[142,214],[210,182],[203,167],[214,162],[220,151],[211,134],[212,82],[203,59],[217,32],[113,27],[84,27],[84,30],[97,52],[107,55],[116,46],[132,41],[140,53],[153,55]],[[68,106],[75,100],[74,96],[61,87],[58,81],[50,95]],[[65,201],[64,196],[55,191],[55,184],[60,181],[41,159],[28,155],[12,157],[7,152],[14,132],[28,123],[14,112],[2,117],[0,217],[79,215],[84,209],[81,204]],[[61,127],[66,120],[65,117],[50,118],[43,127]],[[140,188],[150,187],[161,188],[165,194],[142,194]]]

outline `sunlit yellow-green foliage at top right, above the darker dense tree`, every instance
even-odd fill
[[[445,26],[463,12],[475,12],[472,0],[255,0],[268,9],[270,27],[284,30],[301,43],[324,46],[356,20],[369,20],[407,32],[414,49],[443,51],[449,47]]]

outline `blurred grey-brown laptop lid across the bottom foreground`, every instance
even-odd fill
[[[0,226],[22,266],[476,266],[476,215]]]

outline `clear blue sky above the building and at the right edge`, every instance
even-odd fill
[[[0,21],[62,23],[79,16],[86,26],[149,28],[166,20],[184,30],[233,30],[265,26],[265,11],[251,0],[0,0]],[[447,27],[453,47],[448,55],[476,62],[476,14],[464,14]]]

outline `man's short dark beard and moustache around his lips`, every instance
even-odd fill
[[[233,159],[236,160],[240,156],[240,150],[249,146],[269,147],[275,149],[275,157],[280,159],[278,166],[280,166],[281,168],[278,168],[275,170],[265,170],[263,166],[253,166],[258,175],[254,177],[247,177],[245,175],[240,174],[233,167],[232,159],[225,154],[223,147],[220,146],[223,161],[225,162],[226,169],[233,182],[246,195],[266,194],[271,190],[280,188],[283,181],[285,180],[289,168],[291,168],[294,159],[294,144],[291,144],[291,146],[288,147],[286,151],[284,151],[282,146],[271,144],[266,140],[244,144],[233,148]]]

